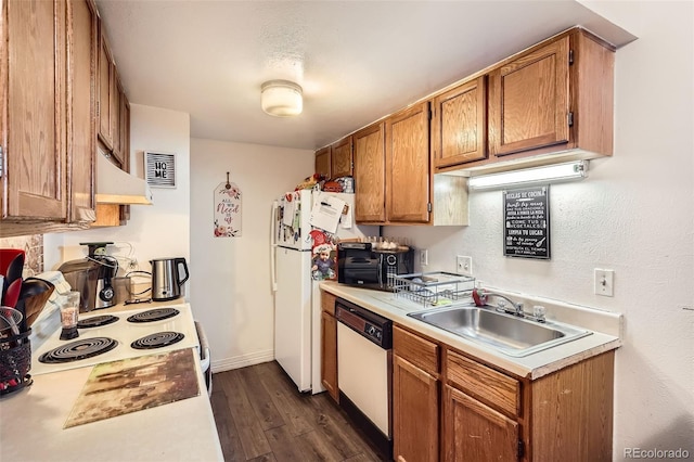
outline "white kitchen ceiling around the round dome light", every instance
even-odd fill
[[[191,137],[318,149],[544,38],[633,37],[574,0],[97,0],[131,103],[185,112]],[[272,117],[260,86],[304,88]]]

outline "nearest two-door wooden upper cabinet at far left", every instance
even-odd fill
[[[1,14],[0,235],[86,229],[94,220],[95,5],[12,1]]]

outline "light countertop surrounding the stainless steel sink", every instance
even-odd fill
[[[397,324],[445,343],[479,360],[494,364],[511,374],[529,380],[551,374],[583,359],[616,349],[621,345],[624,320],[620,313],[541,297],[529,297],[496,288],[493,292],[507,295],[514,300],[524,301],[526,306],[544,306],[548,321],[557,321],[583,328],[591,331],[592,334],[526,357],[516,358],[407,316],[408,312],[433,308],[430,306],[426,307],[421,303],[403,299],[393,293],[338,284],[334,281],[322,282],[320,288],[370,309]]]

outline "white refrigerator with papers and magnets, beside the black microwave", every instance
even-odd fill
[[[274,358],[299,392],[312,394],[324,388],[321,384],[320,281],[311,278],[310,215],[314,201],[326,195],[344,201],[351,211],[340,219],[335,232],[338,239],[377,232],[377,227],[354,224],[354,194],[293,191],[272,205]]]

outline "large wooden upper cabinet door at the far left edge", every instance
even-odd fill
[[[1,14],[2,218],[64,221],[66,4],[8,1]]]

